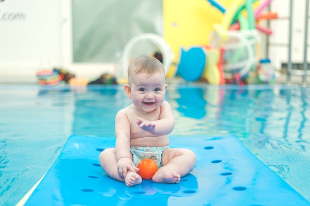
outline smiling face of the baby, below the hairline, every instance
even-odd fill
[[[131,83],[132,103],[140,111],[151,112],[163,103],[166,89],[163,73],[151,76],[139,73],[134,76]]]

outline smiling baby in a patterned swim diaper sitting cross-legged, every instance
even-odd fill
[[[99,156],[107,175],[128,187],[142,182],[137,165],[144,158],[156,161],[159,169],[152,180],[157,183],[179,183],[196,164],[191,150],[169,147],[174,117],[164,100],[166,89],[164,67],[158,59],[141,56],[131,61],[124,90],[132,104],[116,114],[115,148]]]

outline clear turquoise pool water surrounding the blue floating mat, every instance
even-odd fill
[[[236,135],[310,201],[310,88],[181,84],[166,100],[171,138]],[[0,205],[16,205],[70,135],[114,138],[115,114],[130,103],[122,86],[0,85]]]

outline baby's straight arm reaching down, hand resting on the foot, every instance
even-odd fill
[[[130,124],[124,111],[119,111],[115,118],[115,153],[117,159],[117,172],[124,179],[128,171],[136,172],[139,169],[132,162],[130,153]]]

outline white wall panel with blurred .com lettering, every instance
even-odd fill
[[[0,83],[34,82],[40,68],[61,65],[60,1],[0,1]]]

